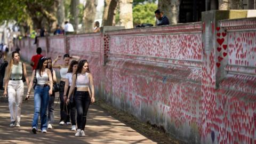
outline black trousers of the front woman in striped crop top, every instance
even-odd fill
[[[87,111],[89,109],[91,98],[88,91],[77,91],[75,96],[77,111],[77,129],[84,130],[86,124]]]

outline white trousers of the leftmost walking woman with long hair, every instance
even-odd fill
[[[24,93],[24,84],[20,81],[9,81],[7,86],[11,122],[20,123],[21,104]]]

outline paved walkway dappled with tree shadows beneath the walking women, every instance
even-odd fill
[[[27,66],[30,68],[30,66]],[[28,70],[31,75],[31,69]],[[30,77],[29,77],[30,79]],[[25,87],[27,93],[27,87]],[[32,93],[34,94],[34,93]],[[3,91],[0,91],[0,97]],[[58,93],[55,103],[58,100]],[[0,102],[0,143],[156,143],[144,137],[131,127],[111,117],[97,105],[91,105],[85,126],[86,137],[75,137],[70,125],[60,126],[59,103],[55,108],[55,123],[47,133],[31,133],[34,115],[34,97],[25,101],[23,97],[21,111],[21,127],[9,127],[10,113],[7,102]]]

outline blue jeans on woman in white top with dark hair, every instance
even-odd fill
[[[36,86],[34,91],[34,119],[32,127],[38,127],[38,117],[41,114],[41,130],[47,129],[47,106],[49,102],[49,86]]]

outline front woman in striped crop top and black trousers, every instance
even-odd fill
[[[76,137],[85,137],[84,128],[86,124],[86,115],[89,109],[90,103],[95,101],[94,98],[94,85],[92,74],[89,70],[87,60],[81,60],[78,63],[77,72],[72,76],[72,84],[69,89],[67,103],[70,101],[73,90],[77,87],[75,93],[75,103],[77,111],[77,131]],[[89,89],[91,88],[91,96]]]

